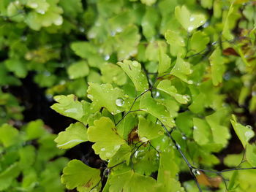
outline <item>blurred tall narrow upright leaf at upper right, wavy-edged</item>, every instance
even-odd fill
[[[224,58],[219,48],[214,50],[214,53],[209,57],[211,64],[211,78],[214,85],[219,85],[222,82],[222,75],[225,72]]]

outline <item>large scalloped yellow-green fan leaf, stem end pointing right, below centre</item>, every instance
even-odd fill
[[[89,141],[95,142],[92,145],[95,153],[104,160],[113,157],[125,143],[125,140],[117,134],[116,126],[110,118],[102,117],[94,120],[94,126],[89,126],[87,134]]]

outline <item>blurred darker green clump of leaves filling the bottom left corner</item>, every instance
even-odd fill
[[[0,191],[64,191],[59,180],[67,158],[55,147],[56,135],[34,120],[20,130],[11,124],[0,126]]]

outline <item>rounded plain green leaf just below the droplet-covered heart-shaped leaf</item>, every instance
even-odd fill
[[[191,49],[195,53],[206,50],[206,45],[210,42],[210,38],[202,31],[196,31],[191,37]]]

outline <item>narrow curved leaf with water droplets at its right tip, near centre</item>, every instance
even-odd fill
[[[157,89],[168,93],[170,96],[173,96],[173,98],[181,104],[187,104],[187,102],[189,101],[189,96],[183,96],[177,93],[176,88],[171,85],[170,80],[162,80],[161,82],[159,82],[159,84],[157,85]]]

